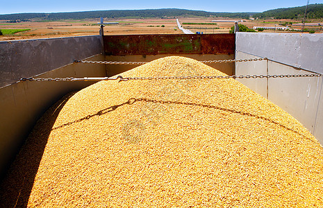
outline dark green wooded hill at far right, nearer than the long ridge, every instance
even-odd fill
[[[279,8],[275,10],[267,10],[253,15],[254,18],[270,18],[275,19],[301,19],[304,17],[306,6],[293,8]],[[306,19],[321,19],[323,18],[323,3],[315,3],[308,5]]]

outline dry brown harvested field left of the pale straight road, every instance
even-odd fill
[[[29,28],[31,31],[15,35],[0,35],[3,40],[37,39],[48,37],[71,37],[83,35],[99,35],[100,19],[84,20],[58,20],[58,21],[26,21],[20,23],[6,23],[0,20],[0,29]],[[130,35],[130,34],[181,34],[177,29],[176,19],[107,19],[117,21],[119,24],[107,25],[105,35]],[[164,27],[162,27],[164,26]]]

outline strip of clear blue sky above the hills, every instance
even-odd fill
[[[76,12],[89,10],[137,10],[147,8],[183,8],[189,10],[205,10],[208,12],[263,12],[274,8],[305,6],[306,2],[307,0],[0,0],[0,14],[24,12]],[[323,3],[323,0],[310,0],[310,3]]]

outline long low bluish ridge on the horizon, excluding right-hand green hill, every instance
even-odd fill
[[[3,20],[26,21],[31,19],[58,20],[58,19],[89,19],[89,18],[120,18],[120,17],[231,17],[249,19],[249,15],[256,12],[206,12],[199,10],[183,10],[176,8],[156,10],[102,10],[88,12],[59,12],[59,13],[20,13],[12,15],[0,15]]]

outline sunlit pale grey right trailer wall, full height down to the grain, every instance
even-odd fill
[[[236,33],[237,75],[323,73],[323,35]],[[239,81],[279,105],[323,144],[323,82],[317,78],[263,78]]]

